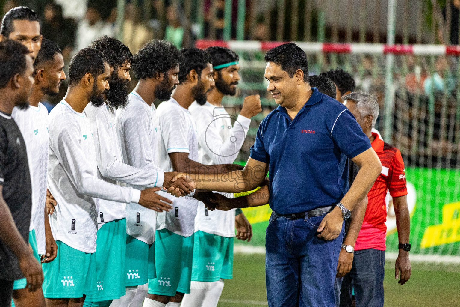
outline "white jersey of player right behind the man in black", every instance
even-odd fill
[[[32,184],[32,215],[29,230],[35,229],[38,253],[46,253],[45,203],[46,174],[48,171],[48,110],[38,103],[26,110],[13,109],[11,116],[17,123],[26,144],[29,160],[30,182]]]

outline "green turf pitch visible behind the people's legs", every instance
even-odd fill
[[[459,307],[460,266],[412,265],[412,277],[401,286],[394,261],[385,266],[385,306]],[[235,255],[233,279],[226,280],[218,307],[267,306],[265,256]]]

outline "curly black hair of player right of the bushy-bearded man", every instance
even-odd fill
[[[138,80],[153,78],[160,74],[167,74],[168,70],[175,68],[182,57],[171,42],[153,40],[145,44],[134,55],[132,70]]]

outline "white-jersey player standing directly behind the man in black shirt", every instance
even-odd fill
[[[29,97],[29,107],[26,110],[19,110],[15,107],[11,114],[21,130],[29,153],[27,158],[32,184],[29,244],[38,261],[40,261],[39,255],[43,255],[44,262],[54,260],[57,249],[48,215],[45,214],[49,151],[48,111],[40,100],[45,94],[55,96],[59,93],[59,87],[66,78],[63,68],[61,48],[55,42],[44,39],[35,58],[35,84]],[[45,306],[42,290],[29,292],[25,289],[25,278],[16,280],[14,286],[13,298],[16,306]],[[12,305],[14,306],[14,302]]]

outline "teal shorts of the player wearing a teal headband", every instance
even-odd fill
[[[193,246],[193,281],[233,278],[233,237],[197,231]]]

